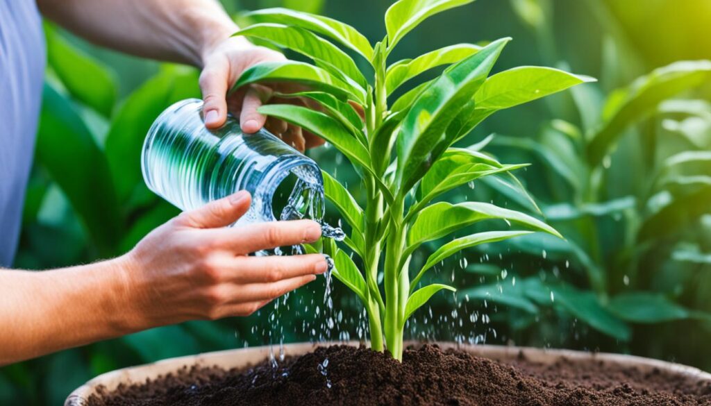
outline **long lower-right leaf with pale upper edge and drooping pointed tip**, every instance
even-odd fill
[[[518,211],[499,208],[489,203],[465,202],[453,205],[439,202],[419,212],[407,235],[407,241],[410,246],[419,245],[422,242],[444,237],[459,228],[490,219],[519,223],[533,230],[562,238],[560,233],[550,225]]]

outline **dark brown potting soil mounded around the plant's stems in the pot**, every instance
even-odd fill
[[[278,370],[267,362],[247,370],[185,367],[100,395],[89,405],[711,405],[711,381],[599,360],[501,363],[433,345],[408,349],[398,363],[333,346],[289,358]]]

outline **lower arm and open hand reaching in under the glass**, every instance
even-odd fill
[[[237,193],[183,213],[113,260],[0,269],[0,365],[156,326],[247,316],[326,271],[318,254],[247,256],[321,235],[310,220],[224,228],[249,205]]]

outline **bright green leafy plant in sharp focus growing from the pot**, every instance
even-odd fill
[[[433,294],[442,289],[454,291],[444,284],[418,289],[434,265],[467,247],[535,231],[560,237],[530,215],[489,203],[435,203],[442,193],[483,176],[508,176],[510,184],[520,186],[509,172],[523,165],[500,164],[479,151],[481,144],[451,146],[498,110],[591,80],[533,66],[488,77],[510,38],[486,46],[457,44],[387,64],[397,43],[425,18],[471,1],[397,1],[385,14],[387,35],[375,46],[344,23],[288,9],[255,11],[250,18],[256,23],[235,33],[313,60],[313,64],[284,61],[255,65],[242,74],[235,88],[257,82],[296,82],[309,90],[282,96],[306,97],[321,105],[321,111],[266,105],[260,112],[323,137],[351,161],[362,178],[367,196],[364,208],[324,173],[326,198],[351,227],[344,240],[346,247],[336,247],[328,240],[324,250],[335,261],[333,275],[360,297],[368,311],[372,348],[387,348],[398,360],[402,359],[405,321]],[[342,48],[362,59],[363,65],[370,65],[366,73]],[[389,97],[405,82],[443,65],[449,66],[439,77],[413,87],[389,104]],[[525,193],[523,188],[519,191]],[[439,247],[421,267],[410,263],[413,252],[424,242],[488,219],[515,223],[523,230],[507,227],[465,235]],[[382,291],[379,281],[384,285]]]

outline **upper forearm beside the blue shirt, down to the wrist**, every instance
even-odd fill
[[[216,0],[38,0],[42,13],[101,46],[201,67],[237,26]]]

